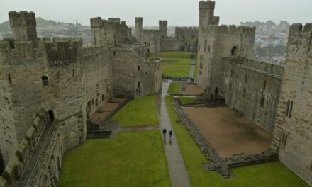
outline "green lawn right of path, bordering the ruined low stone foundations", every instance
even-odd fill
[[[234,174],[233,179],[221,179],[216,171],[206,172],[201,163],[208,162],[204,154],[194,142],[189,132],[183,125],[177,125],[179,120],[174,113],[171,103],[172,97],[166,98],[169,116],[172,120],[174,133],[177,136],[179,147],[182,152],[184,164],[193,187],[201,186],[264,186],[264,187],[299,187],[308,186],[294,173],[280,162],[270,162],[267,164],[257,164],[231,169]]]

